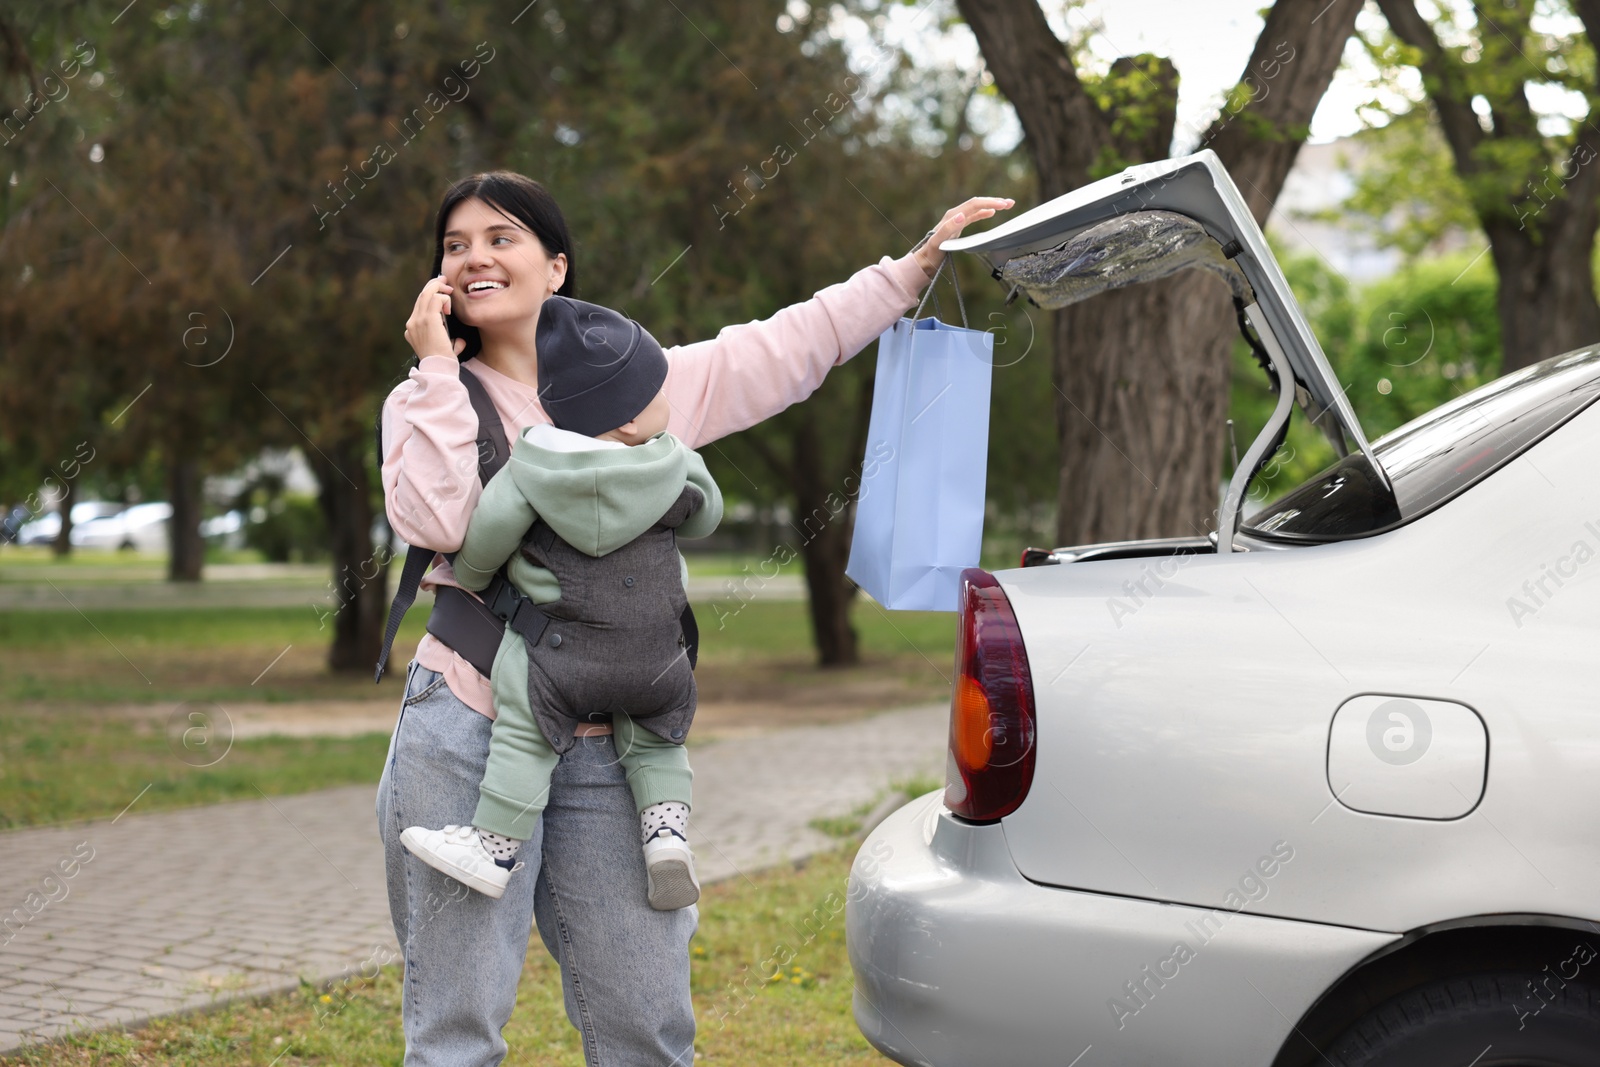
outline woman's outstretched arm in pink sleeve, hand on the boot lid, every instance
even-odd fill
[[[734,434],[810,397],[827,371],[861,352],[917,304],[962,227],[1014,200],[973,197],[944,213],[914,251],[864,267],[848,282],[770,318],[725,326],[710,341],[667,349],[667,430],[690,448]]]

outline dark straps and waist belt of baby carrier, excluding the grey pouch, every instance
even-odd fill
[[[472,400],[472,411],[478,416],[478,482],[488,485],[490,478],[510,459],[510,443],[506,440],[506,429],[501,424],[499,413],[494,411],[494,402],[490,400],[483,382],[467,370],[466,363],[461,365],[461,384],[466,386],[467,397]],[[384,456],[382,418],[382,411],[379,411],[376,426],[379,466]],[[530,531],[523,549],[536,547],[533,545],[533,536],[541,525],[534,523],[534,530]],[[554,531],[550,533],[554,536]],[[435,555],[440,553],[434,549],[422,549],[414,544],[406,545],[405,565],[400,568],[400,584],[389,606],[389,622],[384,627],[384,643],[378,653],[378,669],[373,672],[373,681],[379,681],[384,677],[384,667],[389,664],[389,649],[394,646],[395,633],[400,632],[400,621],[416,601],[422,574]],[[454,561],[456,553],[445,552],[443,557]],[[530,645],[538,645],[549,622],[550,617],[510,584],[506,577],[506,568],[501,566],[483,589],[482,600],[454,585],[440,585],[434,595],[434,611],[427,617],[427,632],[445,641],[456,654],[472,664],[478,673],[488,678],[490,669],[494,665],[494,653],[499,651],[507,625],[522,633]],[[699,625],[694,621],[694,609],[688,600],[683,603],[683,614],[678,617],[678,624],[682,629],[682,643],[693,669],[699,653]]]

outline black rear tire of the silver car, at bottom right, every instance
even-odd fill
[[[1432,982],[1357,1021],[1333,1043],[1328,1062],[1600,1067],[1600,987],[1563,981],[1554,968]]]

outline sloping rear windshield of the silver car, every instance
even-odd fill
[[[1373,445],[1390,494],[1360,453],[1245,525],[1272,541],[1341,541],[1426,515],[1482,482],[1600,395],[1600,346],[1534,363],[1411,419]]]

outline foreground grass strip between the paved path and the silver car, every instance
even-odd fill
[[[690,949],[698,1062],[888,1064],[856,1030],[850,1009],[843,907],[853,854],[846,848],[706,888]],[[560,973],[538,936],[506,1040],[507,1062],[584,1062],[562,1008]],[[400,1064],[402,1054],[400,974],[390,966],[371,981],[302,985],[296,993],[163,1019],[130,1033],[90,1033],[0,1056],[0,1065],[296,1067]]]

